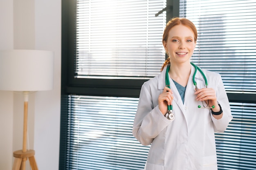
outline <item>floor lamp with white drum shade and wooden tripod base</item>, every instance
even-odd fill
[[[23,145],[13,152],[12,170],[25,170],[26,161],[38,170],[35,151],[27,150],[27,114],[29,93],[53,88],[54,53],[40,50],[0,51],[0,90],[20,91],[24,96]]]

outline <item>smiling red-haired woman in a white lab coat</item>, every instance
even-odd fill
[[[162,72],[141,87],[132,133],[142,145],[151,144],[145,170],[218,169],[214,133],[224,132],[232,115],[219,74],[202,69],[208,88],[200,71],[194,78],[197,88],[193,84],[190,58],[196,41],[190,20],[170,20],[162,41],[168,59]],[[174,119],[168,117],[168,105]]]

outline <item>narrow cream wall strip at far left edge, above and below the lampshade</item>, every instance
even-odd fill
[[[13,2],[0,1],[0,50],[13,49]],[[1,82],[0,82],[1,83]],[[0,91],[0,170],[11,169],[13,93]]]

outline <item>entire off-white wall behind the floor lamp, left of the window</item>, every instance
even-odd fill
[[[54,51],[54,89],[29,95],[28,131],[29,148],[36,151],[38,168],[58,170],[61,0],[1,0],[0,23],[0,50]],[[0,91],[0,170],[11,169],[13,151],[22,149],[22,127],[22,95]]]

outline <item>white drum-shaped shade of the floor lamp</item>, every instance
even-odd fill
[[[0,51],[0,90],[52,90],[53,74],[54,53],[52,51]]]

